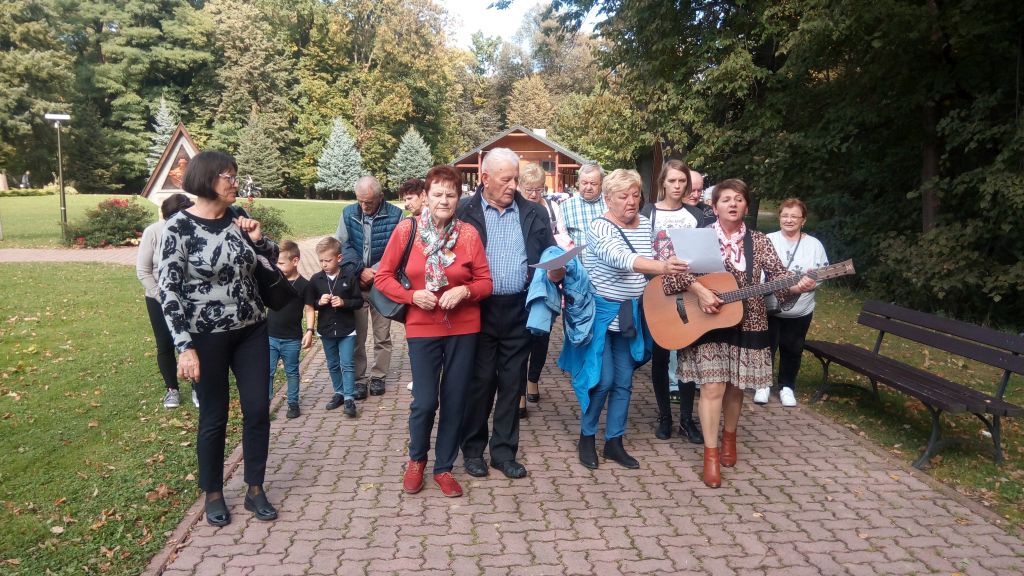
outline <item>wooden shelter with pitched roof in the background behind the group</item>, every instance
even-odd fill
[[[540,164],[547,174],[545,186],[549,192],[562,192],[566,188],[575,188],[580,167],[586,162],[586,159],[579,154],[549,140],[543,130],[535,131],[516,125],[479,147],[459,155],[452,162],[462,174],[462,182],[468,190],[476,190],[480,181],[483,157],[496,148],[507,148],[518,154],[520,166],[527,162]]]

